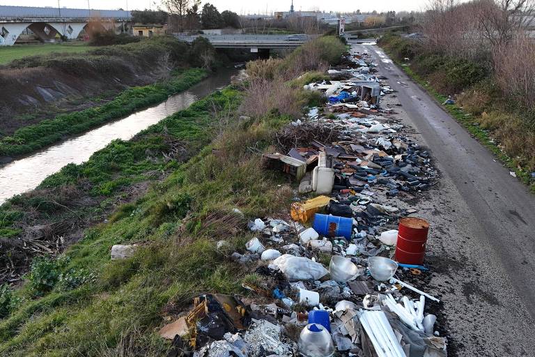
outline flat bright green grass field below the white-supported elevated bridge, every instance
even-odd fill
[[[0,65],[27,56],[47,55],[54,52],[63,54],[82,53],[95,49],[87,43],[40,43],[38,45],[13,45],[0,47]]]

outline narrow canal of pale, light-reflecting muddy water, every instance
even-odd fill
[[[131,139],[192,102],[228,85],[235,70],[219,70],[187,91],[169,97],[165,102],[141,110],[78,137],[50,146],[33,155],[10,162],[0,168],[0,204],[6,199],[36,188],[47,176],[58,172],[70,162],[82,163],[114,139]]]

